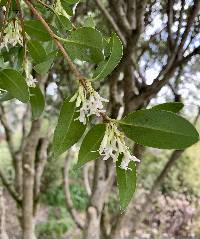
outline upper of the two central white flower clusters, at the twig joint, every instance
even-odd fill
[[[87,117],[91,115],[100,116],[105,112],[103,102],[108,102],[102,98],[93,88],[89,81],[83,86],[80,84],[78,92],[72,97],[71,102],[76,100],[76,107],[80,108],[80,116],[78,120],[83,124],[87,123]]]

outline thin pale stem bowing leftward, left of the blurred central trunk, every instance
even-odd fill
[[[67,209],[68,209],[72,219],[76,223],[77,227],[79,229],[83,230],[84,222],[80,219],[79,215],[77,214],[77,212],[73,206],[73,202],[72,202],[70,190],[69,190],[69,168],[70,168],[70,163],[72,160],[73,160],[72,151],[69,150],[67,153],[67,156],[65,158],[64,170],[63,170],[65,201],[66,201]]]

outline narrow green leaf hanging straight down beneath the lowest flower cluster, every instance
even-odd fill
[[[120,155],[116,162],[116,173],[121,210],[124,211],[136,189],[136,166],[135,162],[131,161],[128,165],[130,169],[124,170],[120,168],[122,157],[123,155]]]

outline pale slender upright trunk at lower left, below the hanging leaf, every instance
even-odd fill
[[[31,130],[26,139],[23,152],[23,202],[22,202],[22,229],[23,239],[35,239],[34,233],[34,174],[35,151],[40,135],[40,120],[32,122]]]

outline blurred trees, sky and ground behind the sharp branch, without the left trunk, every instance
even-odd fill
[[[124,45],[121,64],[94,85],[110,99],[107,110],[113,118],[183,102],[180,114],[200,130],[199,9],[199,0],[85,0],[76,6],[75,25],[96,27],[107,37],[115,31]],[[49,13],[44,16],[52,20]],[[15,61],[19,48],[9,61]],[[75,63],[86,75],[95,68]],[[80,143],[59,159],[52,157],[60,105],[77,88],[67,64],[58,56],[47,75],[35,77],[46,97],[37,122],[31,121],[30,106],[17,100],[0,102],[0,225],[9,239],[21,238],[22,165],[33,124],[40,125],[31,151],[38,239],[200,238],[200,143],[175,151],[130,143],[141,162],[136,193],[121,213],[113,165],[97,160],[74,170]]]

